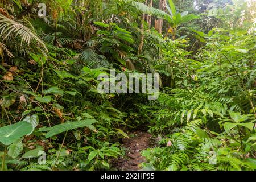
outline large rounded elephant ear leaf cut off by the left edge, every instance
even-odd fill
[[[18,122],[0,128],[0,142],[6,146],[15,142],[24,135],[28,135],[33,131],[33,126],[28,122]]]

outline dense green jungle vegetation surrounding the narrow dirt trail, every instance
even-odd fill
[[[255,0],[1,0],[1,170],[117,170],[133,131],[144,170],[255,170],[255,36]]]

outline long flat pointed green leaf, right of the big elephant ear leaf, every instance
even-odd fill
[[[49,131],[46,134],[46,138],[53,137],[57,134],[63,133],[64,131],[77,129],[79,127],[87,127],[96,122],[97,121],[95,119],[85,119],[82,121],[76,121],[76,122],[68,121],[68,122],[62,123],[60,125],[55,125],[51,128],[51,131]]]

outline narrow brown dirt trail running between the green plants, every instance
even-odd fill
[[[139,164],[146,162],[141,156],[141,151],[150,147],[151,134],[144,131],[130,133],[130,138],[122,139],[123,147],[126,148],[126,156],[115,162],[115,167],[121,171],[138,171]]]

